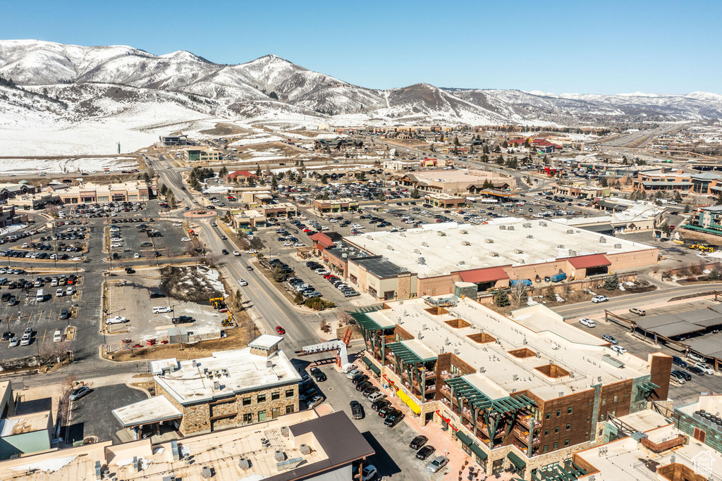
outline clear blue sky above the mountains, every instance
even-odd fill
[[[6,39],[217,63],[274,53],[379,89],[722,94],[721,1],[35,0],[2,17]]]

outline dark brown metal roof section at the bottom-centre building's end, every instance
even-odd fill
[[[375,454],[366,438],[359,432],[345,412],[338,411],[320,418],[289,426],[293,436],[301,436],[313,432],[321,448],[329,456],[323,461],[313,464],[301,464],[276,476],[267,477],[265,481],[295,481],[321,474],[345,466],[357,459]]]

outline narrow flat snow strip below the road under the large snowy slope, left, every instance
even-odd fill
[[[135,157],[82,157],[76,159],[0,159],[0,175],[115,172],[138,167]]]

